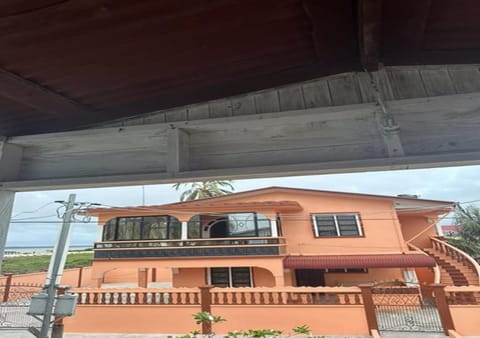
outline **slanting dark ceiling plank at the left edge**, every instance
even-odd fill
[[[5,69],[0,69],[0,96],[51,116],[78,116],[90,111],[64,95]]]

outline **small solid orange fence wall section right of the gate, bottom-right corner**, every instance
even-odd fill
[[[480,336],[480,305],[450,305],[455,331],[462,336]]]

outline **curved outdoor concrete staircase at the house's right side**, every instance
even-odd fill
[[[424,249],[440,267],[440,283],[445,285],[479,285],[478,276],[469,266],[434,248]]]

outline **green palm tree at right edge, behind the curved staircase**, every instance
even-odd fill
[[[447,241],[474,258],[480,257],[480,208],[458,206],[455,221],[460,230],[457,236]]]

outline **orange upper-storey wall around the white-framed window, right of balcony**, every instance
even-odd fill
[[[299,212],[281,213],[287,254],[332,255],[407,251],[391,200],[295,192],[272,192],[248,198],[235,198],[236,202],[286,200],[295,200],[303,207]],[[315,238],[311,217],[313,213],[359,213],[364,236]],[[272,217],[274,212],[264,214]],[[346,252],[345,248],[350,250]]]

